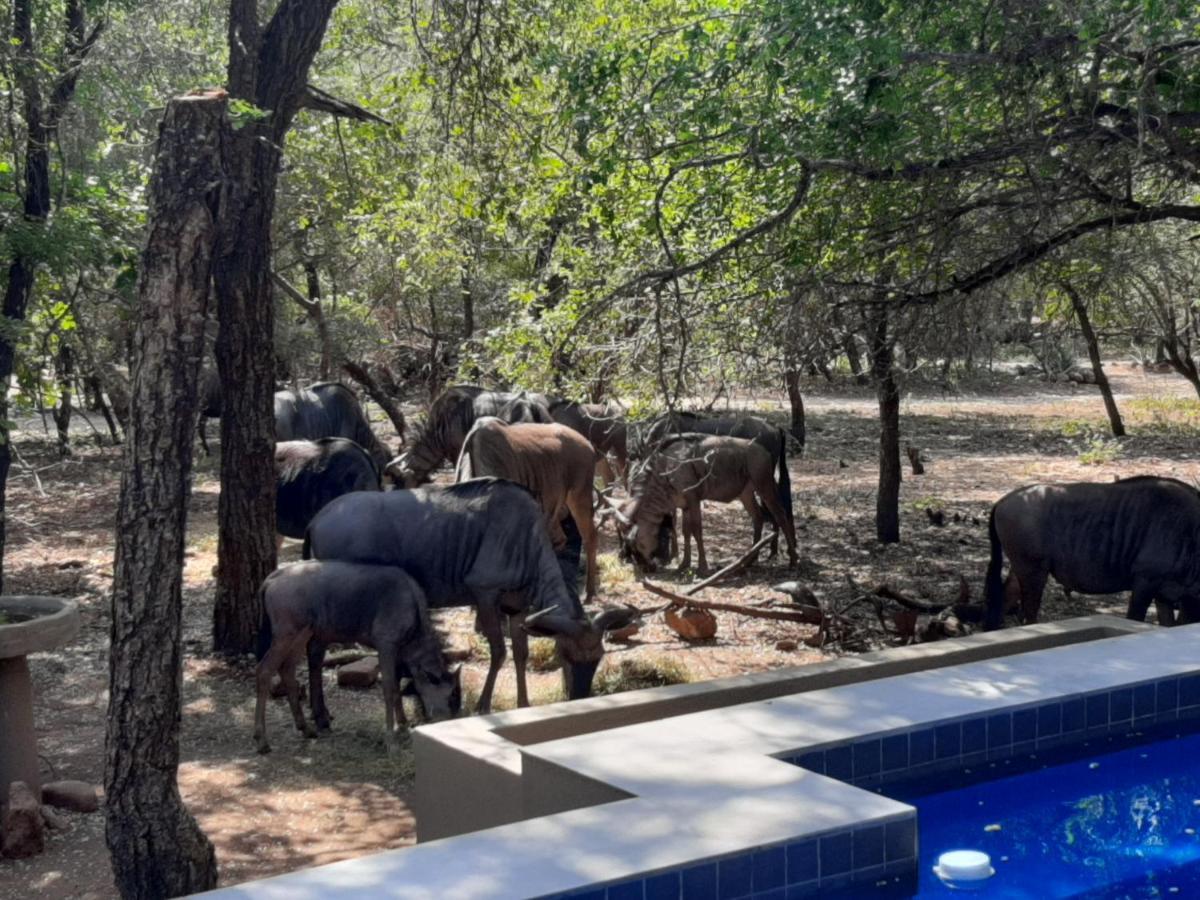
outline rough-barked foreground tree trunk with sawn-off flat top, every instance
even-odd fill
[[[223,92],[167,106],[138,278],[133,403],[116,515],[106,840],[124,898],[216,887],[179,793],[182,576],[200,361],[223,180]]]

